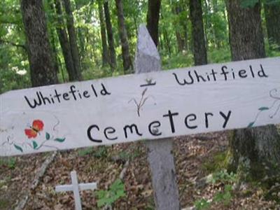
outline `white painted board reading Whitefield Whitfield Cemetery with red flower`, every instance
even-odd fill
[[[280,123],[280,57],[15,90],[0,155]]]

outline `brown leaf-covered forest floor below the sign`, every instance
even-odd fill
[[[265,191],[256,183],[241,183],[235,175],[216,163],[225,158],[226,132],[179,137],[174,140],[174,158],[181,207],[186,209],[280,209],[265,200]],[[69,184],[75,169],[79,183],[97,182],[98,189],[109,189],[129,160],[124,176],[125,195],[113,209],[154,209],[151,175],[144,141],[109,147],[59,152],[35,190],[31,190],[25,210],[74,209],[73,193],[55,193],[55,186]],[[25,155],[0,162],[0,209],[13,209],[30,189],[35,174],[49,153]],[[215,171],[215,172],[214,172]],[[211,174],[209,176],[209,174]],[[207,179],[205,179],[207,177]],[[277,194],[278,192],[276,192]],[[97,207],[97,194],[80,193],[83,209]],[[280,200],[280,193],[276,195]]]

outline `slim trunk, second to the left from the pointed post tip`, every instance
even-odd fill
[[[105,13],[105,22],[106,22],[106,29],[107,29],[108,44],[109,44],[110,66],[112,69],[116,69],[117,66],[116,51],[115,51],[115,44],[113,39],[113,28],[111,24],[111,15],[110,15],[108,1],[104,2],[104,13]]]

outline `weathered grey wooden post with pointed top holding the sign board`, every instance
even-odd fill
[[[140,25],[137,54],[135,56],[135,73],[160,70],[161,62],[158,49],[155,47],[146,26]],[[152,173],[155,207],[160,210],[180,209],[172,144],[171,138],[154,139],[146,142],[148,162]]]

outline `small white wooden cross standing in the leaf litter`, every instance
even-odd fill
[[[76,171],[71,172],[71,185],[56,186],[56,192],[73,191],[75,200],[75,209],[82,210],[82,204],[80,203],[79,190],[94,190],[97,188],[97,183],[78,183]]]

